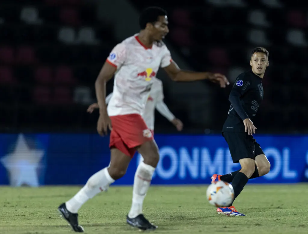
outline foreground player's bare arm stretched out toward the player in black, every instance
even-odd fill
[[[229,85],[229,81],[221,73],[184,71],[174,61],[171,61],[170,65],[165,67],[164,70],[173,81],[209,80],[213,83],[219,83],[221,88]]]

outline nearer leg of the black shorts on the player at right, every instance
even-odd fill
[[[252,136],[246,132],[224,132],[223,136],[228,143],[233,163],[244,158],[255,158],[254,142]]]

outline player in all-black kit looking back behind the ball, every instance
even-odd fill
[[[241,169],[226,175],[212,176],[215,181],[232,182],[234,199],[241,193],[248,179],[263,176],[270,171],[270,162],[261,146],[253,138],[257,129],[252,122],[263,99],[262,78],[268,62],[269,52],[263,47],[254,48],[251,52],[251,70],[241,73],[230,92],[231,102],[228,117],[222,129],[222,135],[229,145],[233,163],[240,163]],[[219,214],[245,216],[232,204],[217,209]]]

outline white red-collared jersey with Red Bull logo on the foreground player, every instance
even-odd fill
[[[143,115],[154,82],[152,78],[160,67],[170,65],[171,55],[164,44],[155,43],[152,48],[146,48],[136,34],[117,44],[107,62],[117,68],[108,115]]]

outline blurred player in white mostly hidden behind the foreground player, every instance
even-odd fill
[[[166,119],[168,119],[178,131],[182,131],[183,123],[180,119],[177,119],[171,111],[168,109],[166,103],[164,103],[164,92],[163,92],[163,83],[161,80],[156,77],[152,78],[154,80],[153,85],[150,90],[150,94],[147,100],[147,104],[145,105],[144,113],[142,114],[142,118],[144,122],[151,130],[154,135],[154,122],[155,122],[155,109]],[[106,104],[110,101],[113,93],[110,93],[106,97]],[[87,112],[92,113],[94,109],[99,109],[97,103],[93,103],[87,109]]]

